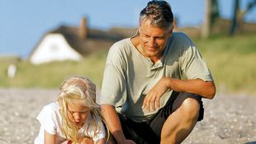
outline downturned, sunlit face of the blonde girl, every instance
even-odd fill
[[[83,105],[82,100],[71,100],[68,104],[69,120],[78,128],[82,128],[90,114],[90,109]]]

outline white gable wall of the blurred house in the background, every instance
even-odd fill
[[[78,61],[80,58],[82,56],[71,48],[63,35],[50,34],[41,40],[31,56],[31,63],[40,64],[64,60]]]

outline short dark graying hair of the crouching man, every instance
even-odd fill
[[[152,26],[161,29],[173,28],[173,12],[171,6],[165,1],[150,1],[140,12],[140,25],[143,21],[151,21]]]

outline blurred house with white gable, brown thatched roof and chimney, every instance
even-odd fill
[[[88,29],[83,18],[79,27],[59,26],[47,32],[29,55],[31,63],[76,60],[84,56],[109,49],[111,44],[123,39],[124,35],[113,31]]]

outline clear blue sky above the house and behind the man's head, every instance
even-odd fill
[[[242,8],[250,0],[242,0]],[[137,26],[146,0],[0,0],[0,55],[26,58],[42,35],[61,25],[78,26],[83,16],[88,26]],[[200,26],[205,0],[168,0],[179,26]],[[220,0],[220,15],[230,18],[234,0]],[[256,7],[245,17],[256,22]]]

